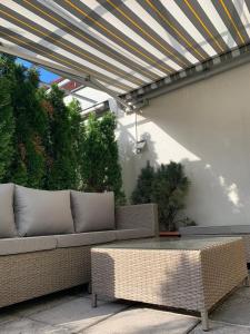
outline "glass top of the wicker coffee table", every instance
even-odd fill
[[[183,249],[199,250],[218,244],[227,244],[232,240],[241,239],[241,237],[208,237],[208,238],[148,238],[133,239],[126,242],[116,242],[94,246],[93,248],[128,248],[128,249]]]

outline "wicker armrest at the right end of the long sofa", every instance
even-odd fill
[[[139,204],[119,206],[116,209],[118,229],[149,228],[157,236],[159,234],[157,204]]]

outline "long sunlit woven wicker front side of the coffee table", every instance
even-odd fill
[[[99,250],[92,254],[96,294],[197,310],[202,295],[199,252]]]

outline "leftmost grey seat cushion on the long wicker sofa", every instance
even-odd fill
[[[48,250],[56,246],[57,239],[53,236],[6,238],[0,239],[0,255]]]

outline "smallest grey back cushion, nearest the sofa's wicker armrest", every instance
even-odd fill
[[[71,191],[76,232],[114,229],[113,193]]]

